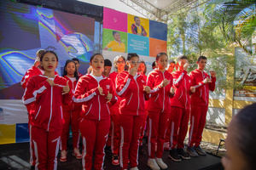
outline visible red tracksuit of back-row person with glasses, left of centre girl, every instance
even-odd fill
[[[116,71],[113,71],[112,73],[109,74],[109,78],[113,82],[114,93],[115,93],[117,75],[118,75],[118,72]],[[120,103],[120,100],[121,98],[118,97],[117,102],[114,105],[110,106],[111,124],[110,124],[109,136],[108,136],[109,137],[108,145],[111,145],[111,150],[113,155],[119,155],[119,145],[120,145],[119,103]]]

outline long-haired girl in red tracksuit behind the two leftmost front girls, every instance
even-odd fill
[[[79,80],[78,71],[76,69],[76,64],[73,60],[67,59],[64,66],[63,77],[67,79],[68,86],[72,93],[74,94],[74,89],[76,88],[77,82]],[[67,140],[69,136],[69,126],[72,128],[73,136],[73,155],[77,159],[81,159],[82,155],[79,151],[79,116],[81,112],[80,105],[74,105],[71,102],[69,105],[63,106],[63,117],[65,123],[63,125],[61,133],[61,158],[60,161],[67,161]]]

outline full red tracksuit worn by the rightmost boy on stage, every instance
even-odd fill
[[[195,93],[191,95],[191,116],[189,129],[189,146],[199,146],[202,132],[206,124],[209,91],[214,91],[216,77],[212,77],[212,82],[204,83],[205,78],[211,78],[205,71],[195,69],[190,73],[192,86]]]

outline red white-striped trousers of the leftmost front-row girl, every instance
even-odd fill
[[[34,144],[36,169],[57,169],[57,155],[61,140],[61,130],[47,132],[43,128],[32,126],[32,143]]]

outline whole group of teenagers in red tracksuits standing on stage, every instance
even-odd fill
[[[21,80],[32,167],[56,169],[59,150],[60,161],[67,161],[70,125],[73,156],[82,159],[86,170],[103,169],[106,145],[111,146],[113,165],[137,170],[144,135],[147,165],[152,170],[168,168],[162,159],[165,148],[172,161],[206,156],[201,135],[216,73],[204,71],[207,57],[200,56],[196,63],[197,69],[188,73],[189,61],[182,55],[177,58],[177,71],[172,71],[167,69],[171,65],[167,54],[160,53],[146,76],[137,54],[126,59],[119,55],[113,59],[115,71],[108,75],[111,63],[104,62],[102,54],[93,54],[86,75],[78,71],[79,59],[68,59],[60,77],[55,71],[57,54],[39,50],[35,64]],[[189,120],[189,144],[184,148]]]

